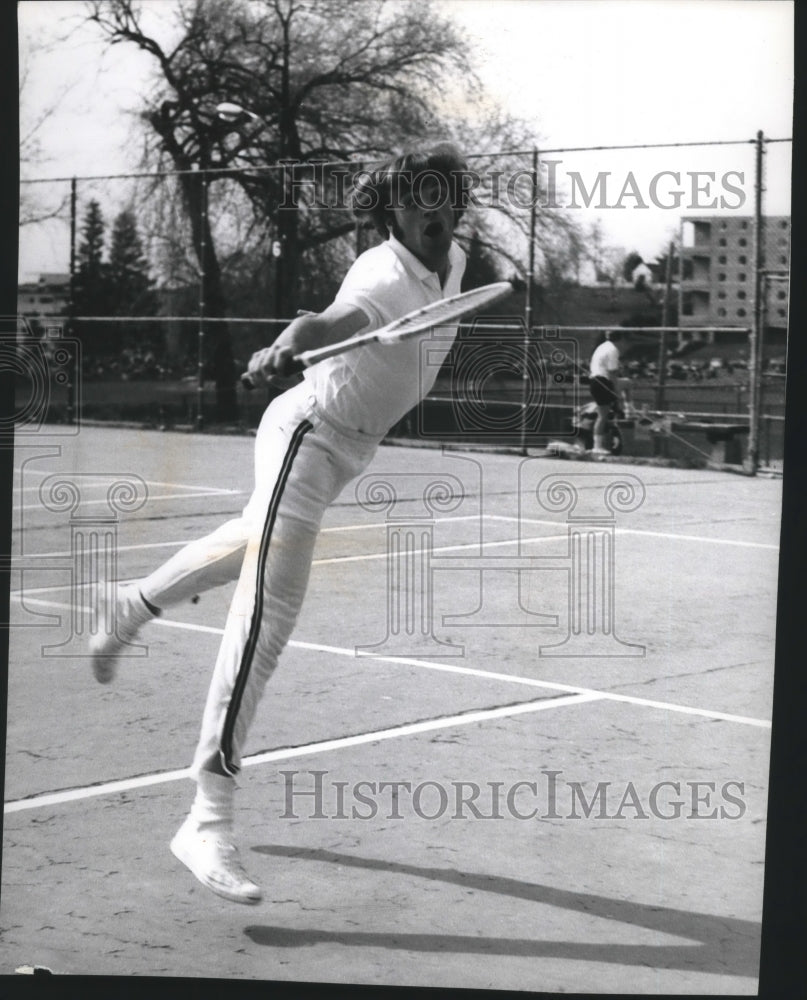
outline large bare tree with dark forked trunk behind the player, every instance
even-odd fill
[[[180,175],[194,250],[204,274],[208,314],[225,313],[221,262],[206,211],[206,191],[230,176],[282,247],[276,314],[296,305],[306,251],[353,229],[338,197],[346,177],[317,167],[316,206],[298,196],[299,165],[355,163],[381,157],[405,134],[424,134],[438,118],[440,79],[471,77],[454,27],[427,0],[180,0],[172,47],[150,35],[131,0],[89,5],[89,17],[111,44],[129,43],[154,57],[159,84],[144,119],[151,162]],[[221,101],[260,116],[260,127],[233,133],[217,119]],[[297,166],[266,170],[267,164]],[[259,168],[259,169],[255,169]],[[309,208],[316,210],[308,210]],[[224,324],[214,369],[220,415],[234,410],[234,372]]]

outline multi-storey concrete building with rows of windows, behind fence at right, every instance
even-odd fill
[[[755,237],[752,216],[688,216],[681,220],[678,315],[682,327],[754,323]],[[762,220],[762,267],[769,272],[764,325],[786,330],[790,269],[790,218]]]

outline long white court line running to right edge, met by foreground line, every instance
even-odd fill
[[[16,595],[13,595],[16,596]],[[72,605],[58,601],[43,601],[38,598],[28,601],[29,604],[39,604],[42,607],[70,609]],[[88,611],[87,608],[82,608]],[[211,635],[223,635],[223,628],[212,625],[195,625],[191,622],[173,621],[170,618],[154,618],[153,625],[164,628],[186,629],[190,632],[206,632]],[[541,681],[535,677],[523,677],[519,674],[502,674],[493,670],[479,670],[476,667],[462,667],[454,663],[435,663],[432,660],[421,660],[409,656],[356,656],[355,649],[343,646],[327,646],[322,643],[302,642],[292,639],[288,643],[295,649],[307,649],[317,653],[331,653],[334,656],[348,656],[357,660],[373,660],[381,663],[394,663],[400,666],[423,667],[426,670],[437,670],[446,674],[464,674],[468,677],[479,677],[484,680],[503,681],[506,684],[521,684],[526,687],[541,688],[547,691],[564,691],[567,694],[592,695],[602,701],[616,701],[626,705],[638,705],[642,708],[658,708],[665,712],[678,712],[682,715],[693,715],[704,719],[716,719],[721,722],[737,722],[746,726],[756,726],[760,729],[770,729],[768,719],[755,719],[747,715],[733,715],[729,712],[719,712],[710,708],[693,708],[691,705],[678,705],[670,701],[656,701],[652,698],[639,698],[635,695],[617,694],[614,691],[600,691],[597,688],[580,687],[576,684],[560,684],[556,681]]]

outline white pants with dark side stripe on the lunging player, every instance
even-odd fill
[[[191,542],[148,577],[143,596],[169,607],[238,579],[192,772],[219,755],[240,767],[247,730],[305,596],[326,508],[370,462],[377,438],[335,427],[303,382],[268,407],[255,440],[255,491],[241,517]]]

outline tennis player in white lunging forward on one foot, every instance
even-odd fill
[[[363,253],[322,313],[295,319],[249,362],[253,380],[287,374],[295,355],[378,329],[460,291],[465,254],[453,239],[467,207],[465,161],[448,144],[422,148],[363,176],[353,208],[384,242]],[[456,327],[455,327],[456,331]],[[428,332],[422,336],[428,336]],[[420,340],[369,345],[308,368],[272,401],[255,441],[255,489],[240,517],[192,542],[154,573],[118,590],[117,632],[101,629],[96,678],[163,609],[238,583],[205,704],[191,773],[196,795],[171,850],[209,889],[256,903],[260,888],[233,843],[236,775],[264,687],[297,620],[326,508],[366,468],[389,428],[431,388]],[[445,353],[450,346],[443,340]]]

